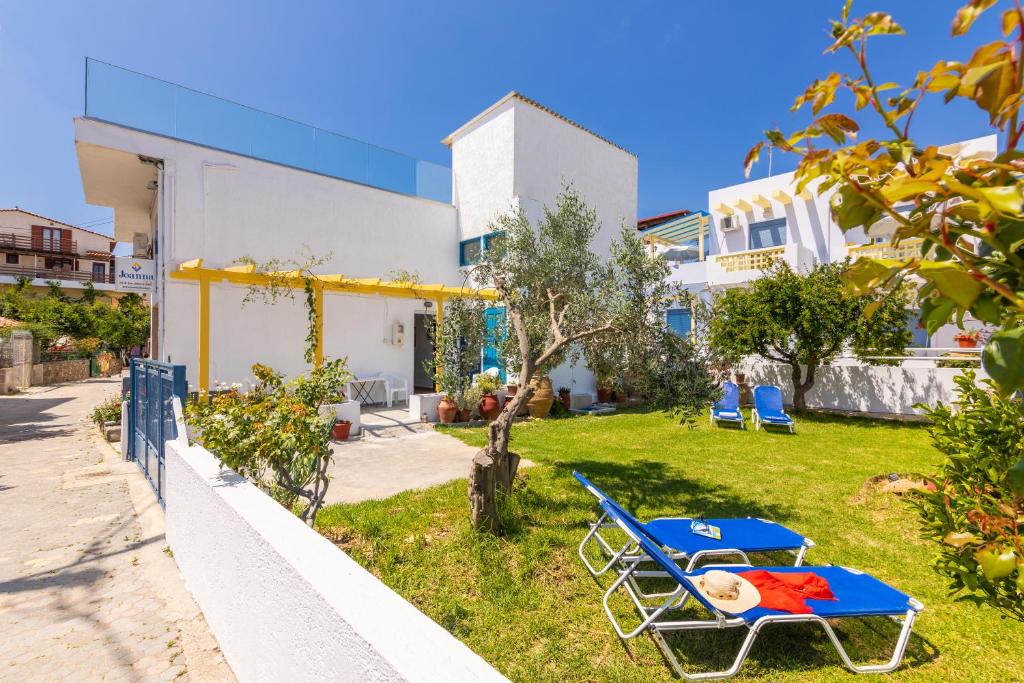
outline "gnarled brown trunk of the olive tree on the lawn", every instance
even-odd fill
[[[512,421],[524,402],[534,395],[529,385],[520,386],[501,414],[487,425],[487,445],[473,458],[469,472],[469,510],[473,527],[498,532],[498,493],[508,494],[519,470],[519,456],[509,453],[509,432]]]

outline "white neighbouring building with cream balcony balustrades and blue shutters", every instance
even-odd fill
[[[991,159],[996,150],[995,135],[943,147],[958,159]],[[672,280],[705,298],[755,280],[776,260],[806,270],[815,263],[846,258],[909,258],[918,253],[918,240],[891,245],[895,229],[891,219],[876,223],[866,233],[861,228],[844,233],[831,218],[833,193],[819,197],[815,187],[811,184],[798,193],[793,173],[773,175],[711,190],[710,213],[667,214],[664,220],[644,219],[638,228],[651,250],[669,259]],[[688,310],[670,312],[670,325],[679,331],[689,328],[691,319]],[[930,339],[916,322],[916,311],[908,311],[915,347],[955,346],[955,326],[945,326]],[[981,326],[969,319],[967,327]]]

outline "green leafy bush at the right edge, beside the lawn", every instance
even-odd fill
[[[1024,622],[1024,401],[978,386],[972,371],[954,381],[956,410],[921,407],[946,455],[936,490],[914,502],[923,537],[939,544],[935,569],[951,595]]]

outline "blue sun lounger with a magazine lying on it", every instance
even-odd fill
[[[800,566],[804,561],[807,551],[814,547],[813,541],[805,539],[781,524],[754,517],[723,517],[706,520],[722,530],[722,539],[718,541],[698,536],[690,530],[690,522],[693,520],[689,517],[662,517],[643,523],[583,474],[573,472],[572,476],[597,499],[598,503],[602,505],[607,503],[612,506],[617,510],[617,514],[621,517],[630,520],[630,523],[635,528],[639,529],[652,542],[659,547],[671,549],[669,554],[672,559],[685,560],[687,562],[687,570],[695,567],[698,561],[710,557],[738,557],[749,564],[748,553],[773,552],[788,552],[795,555],[796,560],[794,564],[795,566]],[[633,541],[629,541],[623,547],[613,548],[601,536],[602,529],[615,526],[617,524],[608,518],[608,514],[602,512],[597,521],[590,525],[590,531],[580,544],[580,559],[583,560],[587,570],[595,577],[605,573],[616,565],[623,566],[625,563],[643,555],[643,553],[639,552]],[[601,552],[609,558],[607,564],[603,567],[596,567],[587,559],[585,551],[591,543],[596,544]],[[639,587],[635,588],[640,593]],[[651,596],[645,595],[645,597]]]

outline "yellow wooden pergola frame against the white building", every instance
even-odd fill
[[[199,390],[210,390],[210,283],[226,282],[232,285],[266,286],[271,283],[293,289],[305,287],[305,278],[299,270],[282,270],[272,273],[257,272],[252,264],[225,268],[203,267],[203,259],[185,261],[170,273],[171,280],[199,283]],[[380,278],[345,278],[341,274],[313,275],[313,306],[316,314],[317,344],[314,361],[324,361],[324,293],[345,292],[367,296],[386,296],[404,299],[430,299],[437,305],[438,334],[443,321],[444,300],[453,297],[478,297],[497,301],[493,289],[474,290],[470,287],[447,285],[419,285],[382,281]]]

